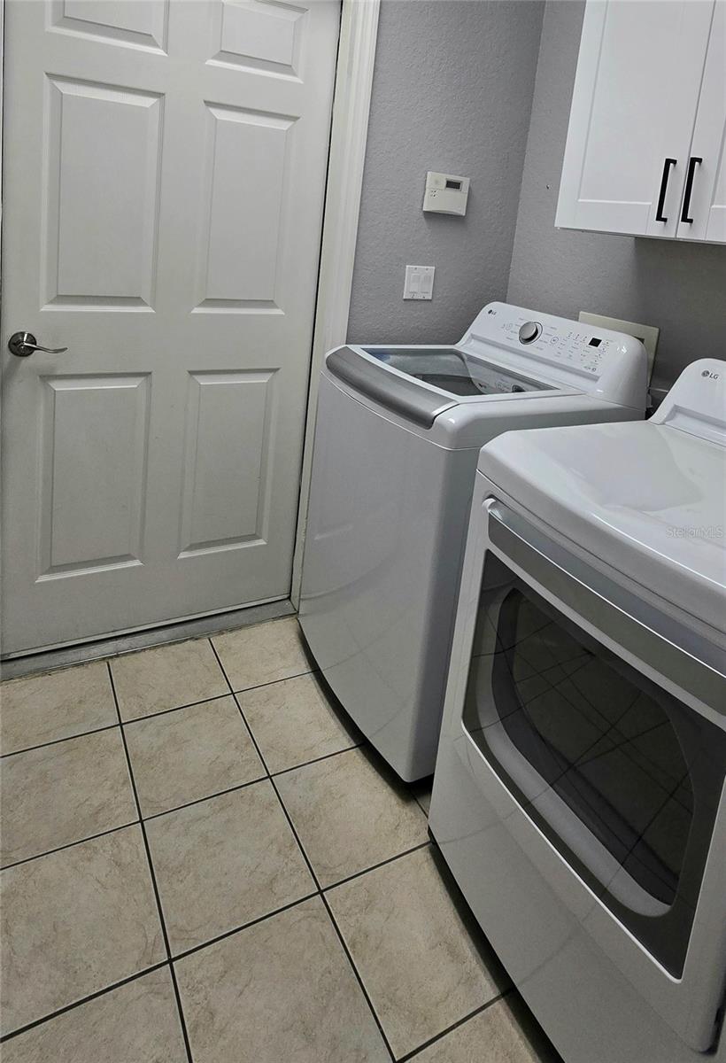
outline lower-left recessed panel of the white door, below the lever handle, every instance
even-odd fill
[[[40,578],[140,563],[149,377],[44,386]]]

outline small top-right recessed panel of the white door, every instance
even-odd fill
[[[219,50],[212,62],[296,77],[304,13],[294,4],[259,0],[215,4],[213,37]]]

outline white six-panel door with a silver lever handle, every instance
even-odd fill
[[[6,4],[5,654],[289,592],[339,14]]]

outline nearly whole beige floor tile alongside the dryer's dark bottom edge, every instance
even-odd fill
[[[500,992],[419,849],[326,895],[395,1056]]]

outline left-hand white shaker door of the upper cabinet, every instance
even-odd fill
[[[713,5],[590,0],[557,225],[676,235]]]

